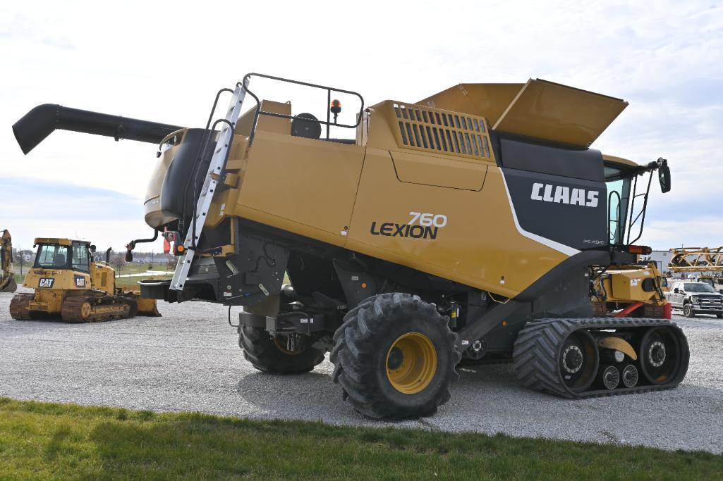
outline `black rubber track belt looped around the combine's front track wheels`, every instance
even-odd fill
[[[631,329],[669,326],[677,334],[680,342],[681,365],[674,381],[670,384],[646,384],[633,388],[597,389],[594,391],[573,392],[562,381],[559,368],[559,355],[562,344],[570,334],[580,329]],[[518,334],[513,353],[515,371],[523,386],[536,391],[545,391],[570,399],[617,396],[650,391],[673,389],[683,381],[688,371],[690,350],[683,331],[668,319],[541,319],[534,321]],[[642,375],[641,375],[642,378]]]

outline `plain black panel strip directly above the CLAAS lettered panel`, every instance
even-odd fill
[[[502,167],[604,182],[599,150],[562,149],[500,138]]]

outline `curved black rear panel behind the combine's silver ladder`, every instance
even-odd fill
[[[163,178],[161,210],[179,219],[183,218],[184,212],[186,217],[190,218],[191,216],[193,203],[195,202],[192,182],[194,171],[197,179],[197,190],[200,191],[203,178],[208,170],[208,164],[211,161],[211,155],[213,155],[215,140],[210,139],[205,157],[200,162],[200,165],[196,164],[197,158],[203,149],[202,143],[205,141],[205,133],[205,129],[189,129],[186,132],[183,142],[181,142],[176,155],[171,160],[171,165],[166,170],[166,177]],[[188,222],[184,222],[184,225],[188,225]],[[185,233],[181,234],[185,235]]]

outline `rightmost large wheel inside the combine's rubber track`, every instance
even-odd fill
[[[640,345],[640,368],[650,384],[664,385],[678,382],[685,372],[681,370],[683,349],[672,329],[653,327],[643,335]],[[687,363],[683,363],[687,366]]]

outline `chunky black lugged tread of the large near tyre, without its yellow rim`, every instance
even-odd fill
[[[368,362],[370,353],[378,350],[372,334],[377,329],[378,323],[388,321],[387,316],[392,311],[410,318],[433,319],[436,316],[439,318],[438,321],[446,321],[446,318],[437,313],[434,305],[424,302],[416,295],[387,293],[374,295],[361,301],[358,306],[346,313],[344,323],[334,333],[335,345],[330,354],[330,360],[334,364],[332,379],[335,384],[341,384],[343,399],[351,402],[357,411],[367,417],[403,419],[432,415],[437,412],[437,407],[449,401],[450,384],[459,377],[455,366],[461,360],[462,355],[454,345],[457,334],[451,332],[449,328],[446,328],[448,334],[446,334],[445,341],[450,350],[450,371],[445,373],[442,389],[436,398],[425,407],[417,407],[416,412],[410,413],[395,409],[395,407],[381,402],[381,394],[370,388],[373,384],[367,384],[368,379],[364,374],[346,373],[343,368],[343,364],[346,364],[347,368],[356,366],[358,369],[360,365]],[[342,360],[341,358],[344,356],[346,358]],[[344,362],[345,360],[346,362]]]

